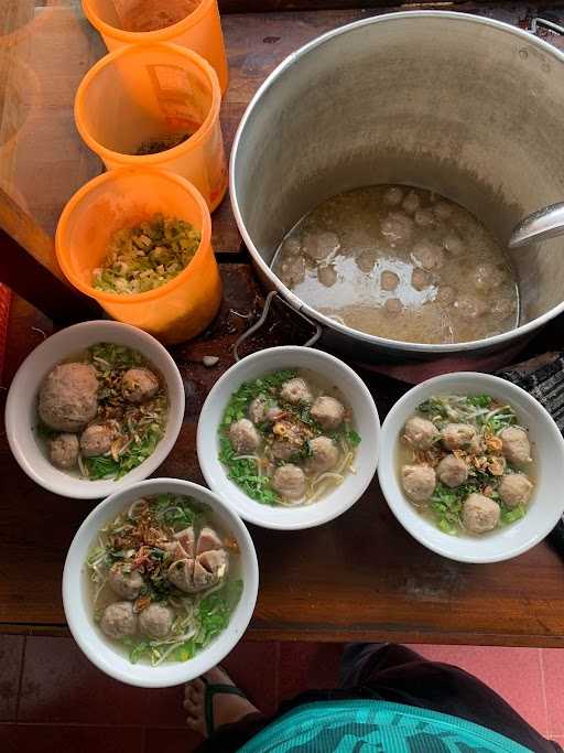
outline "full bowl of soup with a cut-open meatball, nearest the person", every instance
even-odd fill
[[[247,528],[213,492],[151,478],[101,502],[73,539],[63,573],[78,646],[140,687],[189,681],[242,637],[259,568]]]

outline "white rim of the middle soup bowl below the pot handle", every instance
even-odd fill
[[[250,513],[247,509],[241,509],[237,502],[234,502],[232,499],[227,499],[227,504],[232,506],[234,509],[238,513],[238,515],[243,518],[243,520],[247,520],[248,523],[252,523],[257,526],[260,526],[262,528],[269,528],[272,530],[305,530],[307,528],[314,528],[316,526],[324,525],[325,523],[329,523],[330,520],[334,520],[335,518],[339,517],[344,513],[346,513],[352,505],[355,505],[358,499],[362,496],[362,494],[366,492],[368,488],[369,484],[372,482],[376,475],[376,470],[378,466],[378,458],[379,458],[379,451],[380,451],[380,444],[381,444],[381,429],[380,429],[380,417],[378,415],[378,409],[376,407],[376,404],[373,401],[373,398],[370,394],[370,390],[361,379],[361,377],[347,364],[345,364],[340,358],[337,358],[330,353],[326,353],[325,351],[321,351],[317,348],[313,347],[305,347],[302,345],[280,345],[275,347],[267,347],[261,351],[257,351],[256,353],[252,353],[248,356],[245,356],[240,361],[238,361],[236,364],[234,364],[223,376],[215,383],[214,387],[209,391],[204,406],[202,407],[202,412],[199,415],[199,420],[198,420],[198,428],[197,428],[197,453],[198,453],[198,462],[199,466],[202,469],[202,473],[204,474],[204,478],[206,480],[206,483],[209,485],[212,490],[216,492],[216,494],[219,494],[220,496],[224,495],[224,491],[220,488],[220,486],[216,482],[216,476],[213,473],[213,469],[210,467],[210,463],[208,461],[207,453],[204,451],[204,444],[206,442],[206,439],[208,437],[214,437],[216,438],[217,435],[217,426],[212,426],[210,421],[206,421],[207,413],[210,409],[210,406],[215,402],[216,396],[218,392],[224,388],[226,384],[229,384],[234,380],[234,378],[237,378],[237,374],[240,368],[243,367],[243,365],[247,365],[249,363],[260,363],[262,361],[267,361],[272,353],[281,353],[284,355],[289,356],[289,359],[291,362],[291,356],[294,355],[295,353],[300,354],[308,354],[311,355],[312,361],[325,361],[325,362],[330,362],[334,364],[338,369],[341,372],[346,373],[349,378],[354,379],[358,387],[358,391],[362,397],[362,400],[366,405],[366,409],[370,412],[370,417],[372,419],[372,424],[375,427],[375,447],[372,450],[372,462],[370,465],[365,466],[366,470],[364,471],[362,474],[358,473],[358,475],[362,475],[364,482],[359,487],[359,492],[356,493],[355,495],[351,495],[348,501],[340,505],[335,505],[332,507],[324,507],[324,505],[308,505],[308,506],[296,506],[296,507],[284,507],[283,512],[281,513],[281,518],[276,521],[267,521],[263,519],[261,516],[261,512],[263,508],[263,505],[259,502],[254,502],[256,505],[256,514]],[[290,367],[291,364],[289,364]],[[312,367],[313,368],[313,367]],[[264,373],[269,370],[268,364],[264,364]],[[234,389],[230,390],[232,392]],[[218,465],[221,467],[221,473],[225,478],[227,478],[227,474],[225,473],[225,470],[221,465],[220,462],[218,462]],[[230,484],[232,482],[229,482]],[[344,485],[344,484],[343,484]],[[340,488],[340,487],[338,487]],[[241,494],[245,494],[241,492]],[[254,510],[254,508],[252,508]],[[300,519],[299,516],[301,516],[300,510],[312,510],[312,509],[317,509],[318,513],[315,516],[315,519],[312,520],[302,520]],[[296,518],[299,519],[292,519]],[[284,519],[285,518],[285,519]]]

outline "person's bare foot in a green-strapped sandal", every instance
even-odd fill
[[[267,723],[268,718],[247,698],[234,693],[217,692],[212,700],[214,732],[209,734],[206,719],[206,687],[227,685],[236,687],[231,678],[219,667],[186,684],[184,709],[186,724],[205,738],[198,747],[200,753],[230,753],[253,738]]]

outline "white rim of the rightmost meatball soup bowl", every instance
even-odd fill
[[[494,374],[485,374],[482,372],[453,372],[449,374],[442,374],[440,376],[432,377],[431,379],[426,379],[425,381],[420,383],[419,385],[415,385],[412,387],[410,390],[408,390],[402,397],[394,402],[392,408],[389,410],[383,423],[382,423],[382,435],[381,435],[381,441],[382,444],[387,440],[387,433],[390,430],[390,424],[392,421],[395,419],[397,416],[401,416],[402,411],[404,412],[405,419],[409,417],[411,411],[405,410],[406,404],[409,404],[412,398],[417,394],[422,391],[427,391],[430,387],[446,387],[449,384],[455,387],[456,383],[463,379],[473,379],[476,381],[476,389],[480,389],[480,385],[496,385],[497,387],[500,388],[500,391],[505,391],[507,395],[511,396],[519,396],[520,399],[522,399],[524,402],[527,402],[529,406],[532,407],[533,410],[535,410],[539,416],[542,416],[543,418],[541,419],[540,422],[543,422],[546,431],[550,432],[551,438],[554,440],[554,443],[556,447],[560,448],[560,454],[562,458],[562,469],[564,471],[564,438],[562,437],[562,433],[556,426],[556,422],[552,418],[552,416],[549,413],[549,411],[542,406],[539,400],[536,400],[532,395],[530,395],[527,390],[524,390],[522,387],[519,387],[518,385],[513,384],[512,381],[509,381],[507,379],[503,379],[502,377],[496,376]],[[508,400],[511,398],[509,397]],[[390,438],[390,441],[395,444],[398,440],[398,437]],[[456,556],[453,553],[452,548],[447,546],[447,542],[453,544],[453,541],[456,541],[456,537],[449,536],[448,534],[444,534],[444,540],[445,540],[445,546],[441,545],[435,545],[433,542],[430,542],[425,536],[421,534],[421,529],[416,529],[405,523],[402,516],[402,509],[399,504],[395,503],[395,499],[392,497],[392,493],[395,493],[395,487],[392,488],[392,482],[389,481],[393,478],[394,484],[397,490],[399,491],[400,496],[402,496],[403,503],[405,505],[409,505],[410,503],[405,499],[403,493],[401,492],[399,482],[397,481],[397,474],[394,470],[384,467],[382,463],[379,464],[378,466],[378,481],[380,483],[380,488],[382,491],[382,495],[388,503],[388,506],[390,507],[391,512],[393,513],[394,517],[402,525],[402,527],[412,536],[414,539],[416,539],[420,544],[422,544],[424,547],[427,549],[431,549],[437,555],[441,555],[442,557],[446,557],[447,559],[456,560],[458,562],[468,562],[473,564],[486,564],[490,562],[502,562],[508,559],[512,559],[513,557],[518,557],[519,555],[524,553],[532,547],[536,546],[542,541],[549,534],[550,531],[554,528],[554,526],[557,524],[562,515],[564,514],[564,496],[562,497],[562,502],[560,505],[554,505],[554,513],[552,516],[546,517],[546,524],[542,528],[539,528],[536,534],[533,536],[530,536],[525,541],[523,541],[521,545],[513,546],[513,547],[507,547],[507,549],[501,552],[498,556],[475,556],[475,557],[469,557],[469,556]],[[392,499],[392,501],[390,501]],[[523,520],[525,518],[522,518]],[[517,521],[518,524],[519,521]],[[517,525],[514,524],[514,525]],[[479,540],[479,539],[478,539]]]

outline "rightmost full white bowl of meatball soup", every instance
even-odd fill
[[[438,376],[382,426],[378,476],[398,520],[429,549],[496,562],[539,544],[564,512],[564,440],[520,387],[488,374]]]

